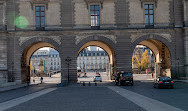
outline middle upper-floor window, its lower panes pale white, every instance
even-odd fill
[[[100,8],[99,5],[90,5],[91,28],[98,29],[100,27]]]

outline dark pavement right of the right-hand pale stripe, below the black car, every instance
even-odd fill
[[[137,81],[134,86],[121,86],[127,90],[188,111],[188,84],[175,83],[174,89],[155,89],[153,81]]]

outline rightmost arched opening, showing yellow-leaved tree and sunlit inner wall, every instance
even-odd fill
[[[146,74],[145,79],[153,79],[158,76],[171,77],[171,61],[168,47],[155,39],[147,39],[140,42],[134,49],[132,68],[134,74]]]

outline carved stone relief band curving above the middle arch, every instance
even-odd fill
[[[117,43],[116,36],[114,36],[114,35],[103,35],[103,34],[100,34],[100,35],[87,35],[87,36],[86,35],[80,35],[80,36],[76,36],[76,38],[75,38],[76,39],[75,44],[77,45],[83,39],[89,38],[89,37],[94,37],[96,40],[100,40],[99,39],[100,37],[105,37],[105,38],[108,38],[111,41],[113,41],[115,44]]]

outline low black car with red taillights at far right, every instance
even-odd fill
[[[154,80],[154,88],[174,88],[174,81],[170,77],[158,77]]]

